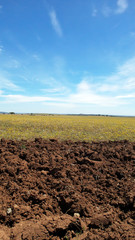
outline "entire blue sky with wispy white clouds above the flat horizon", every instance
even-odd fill
[[[0,0],[0,111],[135,115],[135,1]]]

